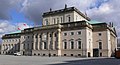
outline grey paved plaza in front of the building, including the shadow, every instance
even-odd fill
[[[120,65],[120,59],[0,55],[0,65]]]

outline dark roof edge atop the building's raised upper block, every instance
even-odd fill
[[[56,14],[61,14],[61,13],[66,13],[66,12],[71,12],[71,11],[76,11],[82,17],[84,17],[85,19],[87,19],[88,21],[90,21],[89,17],[87,17],[86,15],[84,15],[82,12],[80,12],[75,7],[69,7],[69,8],[64,8],[64,9],[60,9],[60,10],[45,12],[45,13],[43,13],[43,17],[45,17],[45,16],[51,16],[51,15],[56,15]]]

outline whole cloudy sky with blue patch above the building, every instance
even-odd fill
[[[76,7],[87,13],[91,20],[113,22],[120,38],[119,0],[0,0],[0,37],[42,23],[42,13],[68,7]],[[24,25],[25,24],[25,25]]]

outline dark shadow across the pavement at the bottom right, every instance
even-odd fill
[[[84,59],[65,61],[65,63],[49,64],[49,65],[120,65],[120,59],[101,58],[101,59]]]

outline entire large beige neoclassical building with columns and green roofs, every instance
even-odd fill
[[[91,21],[67,6],[43,13],[42,26],[5,34],[2,40],[2,54],[33,56],[111,57],[117,47],[113,23]]]

